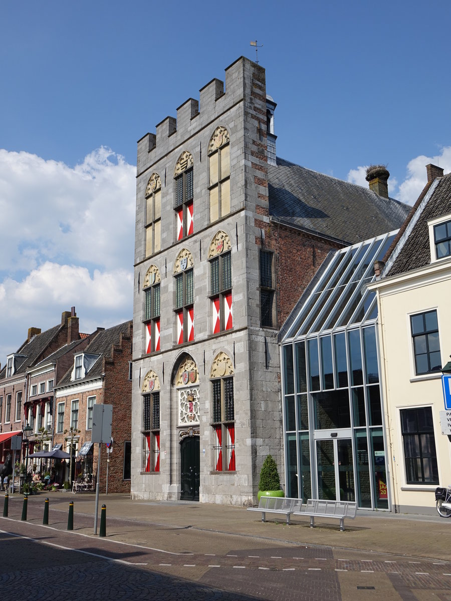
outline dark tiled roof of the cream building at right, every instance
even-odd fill
[[[426,192],[431,188],[429,183]],[[425,203],[422,204],[423,199]],[[408,222],[397,236],[397,247],[392,245],[393,254],[385,257],[387,270],[384,277],[406,273],[431,263],[431,250],[429,248],[428,220],[451,213],[451,174],[444,175],[437,181],[436,188],[428,199],[423,190],[414,209],[409,215]],[[396,253],[396,255],[395,255]]]

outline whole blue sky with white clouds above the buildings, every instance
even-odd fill
[[[451,171],[449,2],[97,0],[0,5],[0,362],[76,306],[132,317],[136,142],[244,55],[266,69],[277,153],[413,203]],[[114,210],[111,210],[114,207]]]

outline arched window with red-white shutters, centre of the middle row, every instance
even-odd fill
[[[174,264],[176,288],[175,313],[177,344],[194,340],[194,261],[192,254],[183,248]]]

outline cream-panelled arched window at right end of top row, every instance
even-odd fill
[[[230,213],[230,138],[216,127],[208,145],[210,222]]]

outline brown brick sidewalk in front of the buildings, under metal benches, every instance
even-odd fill
[[[38,514],[44,506],[45,493],[31,496],[29,510]],[[66,492],[49,493],[52,516],[61,516],[61,528],[66,527],[69,502],[74,502],[74,516],[94,516],[95,495],[73,495]],[[10,495],[10,516],[20,519],[22,495]],[[257,538],[266,539],[272,545],[327,545],[411,557],[449,560],[449,536],[451,519],[437,515],[396,515],[382,511],[360,511],[354,520],[345,520],[345,531],[340,532],[338,520],[317,519],[316,528],[310,528],[308,517],[293,516],[292,525],[284,523],[283,516],[267,516],[270,521],[262,523],[260,514],[242,507],[213,505],[183,501],[130,501],[124,495],[100,495],[100,507],[106,505],[107,535],[121,542],[138,543],[159,547],[173,545],[177,548],[177,529],[191,528],[191,551],[204,549],[207,543],[214,552],[214,532],[239,537],[245,548],[255,545]],[[0,511],[2,496],[0,496]],[[66,522],[65,522],[66,520]],[[94,517],[93,517],[94,520]],[[100,524],[100,517],[99,522]],[[93,529],[84,528],[84,534]],[[165,535],[162,537],[161,532]],[[179,537],[180,538],[180,537]],[[222,539],[221,539],[222,540]],[[236,544],[236,542],[234,543]]]

